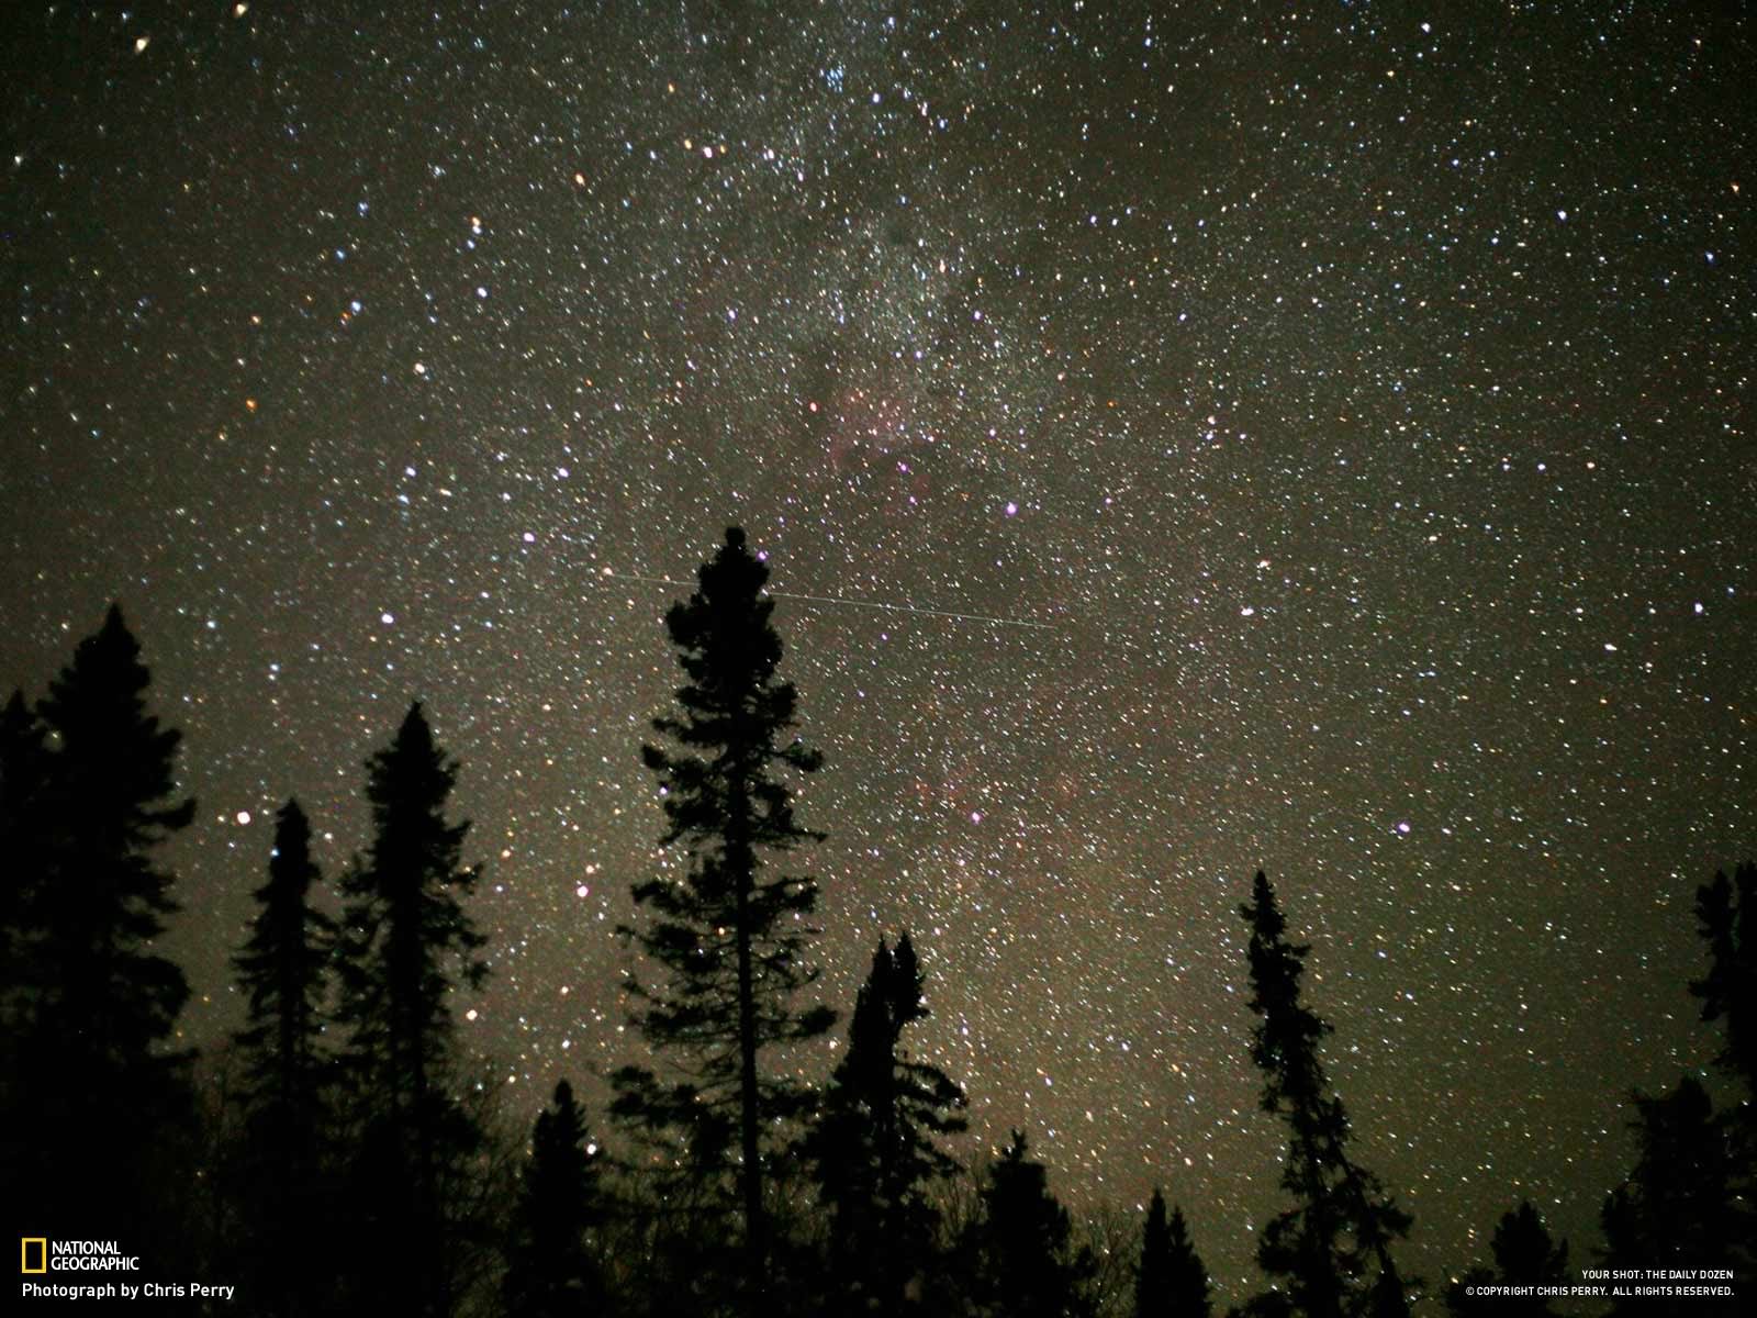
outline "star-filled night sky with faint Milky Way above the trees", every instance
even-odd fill
[[[914,933],[965,1153],[1165,1184],[1242,1299],[1262,866],[1407,1269],[1527,1195],[1590,1262],[1757,847],[1741,7],[606,9],[7,11],[0,684],[123,601],[186,1037],[272,810],[334,875],[420,698],[467,1044],[525,1114],[629,1056],[666,580],[736,522],[824,995]]]

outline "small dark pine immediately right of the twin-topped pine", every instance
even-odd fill
[[[979,1311],[996,1318],[1089,1318],[1089,1251],[1074,1249],[1068,1211],[1049,1193],[1044,1163],[1030,1144],[1012,1144],[989,1167],[982,1216],[975,1223]]]

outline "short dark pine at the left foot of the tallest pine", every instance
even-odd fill
[[[538,1114],[531,1132],[508,1249],[510,1318],[606,1313],[603,1276],[587,1239],[601,1216],[597,1156],[573,1086],[560,1081],[553,1105]]]

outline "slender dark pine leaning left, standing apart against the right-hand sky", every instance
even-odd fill
[[[1281,1184],[1293,1207],[1258,1241],[1258,1265],[1286,1278],[1286,1302],[1305,1318],[1395,1318],[1407,1313],[1406,1283],[1390,1248],[1409,1230],[1377,1177],[1348,1153],[1349,1123],[1330,1093],[1320,1044],[1330,1026],[1300,1003],[1304,945],[1286,940],[1276,889],[1258,872],[1253,900],[1240,907],[1251,926],[1251,1058],[1263,1072],[1263,1111],[1286,1118]],[[1258,1309],[1283,1300],[1263,1297]]]

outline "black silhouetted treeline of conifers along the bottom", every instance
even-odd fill
[[[195,805],[121,610],[46,694],[14,692],[0,1156],[19,1235],[118,1241],[142,1276],[235,1285],[223,1307],[253,1314],[1212,1318],[1200,1242],[1161,1191],[1139,1221],[1095,1225],[1056,1199],[1026,1132],[977,1167],[952,1156],[966,1097],[912,1046],[929,986],[907,931],[878,942],[840,1021],[813,1000],[805,858],[824,835],[794,794],[821,756],[794,731],[766,580],[731,529],[664,619],[682,685],[640,754],[678,863],[634,884],[622,930],[654,1065],[604,1077],[603,1112],[555,1077],[529,1130],[457,1037],[490,949],[469,914],[481,870],[450,801],[459,766],[420,703],[365,764],[371,836],[339,873],[315,863],[299,803],[279,810],[260,872],[239,875],[255,898],[232,956],[246,1019],[195,1056],[176,1044],[188,982],[156,951],[177,912],[165,844]],[[1753,889],[1752,865],[1699,889],[1706,968],[1687,986],[1738,1100],[1717,1109],[1690,1075],[1634,1097],[1638,1155],[1604,1195],[1595,1253],[1571,1265],[1520,1202],[1488,1256],[1423,1279],[1399,1262],[1411,1218],[1362,1165],[1328,1075],[1307,947],[1258,873],[1239,912],[1254,1016],[1240,1063],[1281,1123],[1283,1207],[1256,1227],[1260,1290],[1237,1318],[1539,1318],[1548,1299],[1497,1288],[1578,1285],[1595,1262],[1732,1267],[1757,1299]],[[831,1030],[835,1070],[801,1079],[792,1046]]]

